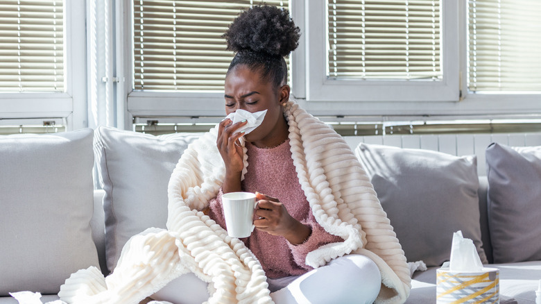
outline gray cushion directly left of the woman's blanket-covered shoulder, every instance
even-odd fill
[[[169,178],[184,149],[198,136],[96,129],[94,153],[105,190],[105,248],[110,271],[132,235],[150,227],[166,228]]]

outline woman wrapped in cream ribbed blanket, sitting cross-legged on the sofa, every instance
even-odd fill
[[[261,126],[244,135],[246,122],[225,119],[192,143],[169,181],[168,230],[132,237],[107,280],[79,271],[61,298],[77,303],[72,290],[107,282],[81,301],[159,291],[173,303],[403,303],[409,268],[370,180],[334,130],[289,100],[284,56],[299,39],[289,12],[250,8],[225,38],[236,52],[225,112],[267,110]],[[221,195],[237,191],[259,200],[246,239],[225,230]]]

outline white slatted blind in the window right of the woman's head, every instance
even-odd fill
[[[328,0],[327,77],[440,80],[440,1]]]

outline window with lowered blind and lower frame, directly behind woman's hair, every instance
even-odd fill
[[[289,8],[289,1],[266,1]],[[223,85],[234,53],[221,37],[239,12],[259,1],[132,1],[135,117],[223,116]],[[126,50],[128,51],[128,50]]]

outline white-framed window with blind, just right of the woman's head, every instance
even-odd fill
[[[457,3],[311,1],[307,100],[458,101]]]

